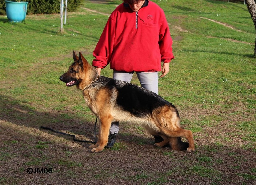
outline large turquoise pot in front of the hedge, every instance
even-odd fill
[[[25,20],[28,2],[5,1],[5,5],[6,15],[9,21],[21,22]]]

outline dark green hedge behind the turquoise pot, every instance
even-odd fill
[[[17,1],[18,0],[12,0]],[[60,13],[60,0],[22,0],[28,2],[27,14],[52,14]],[[68,0],[67,11],[77,10],[81,0]],[[65,1],[64,1],[65,4]],[[0,0],[0,14],[4,15],[5,0]]]

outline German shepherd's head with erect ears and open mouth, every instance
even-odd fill
[[[85,71],[88,69],[88,62],[79,52],[79,57],[73,51],[74,62],[69,66],[68,71],[60,76],[60,80],[66,83],[66,86],[78,85],[84,79]]]

